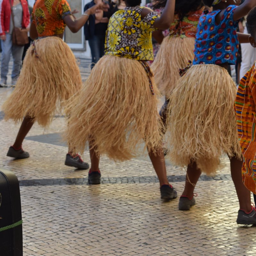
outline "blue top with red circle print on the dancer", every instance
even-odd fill
[[[221,12],[204,11],[199,19],[196,32],[195,59],[193,64],[236,64],[238,54],[238,21],[233,19],[236,5],[229,5],[223,13],[220,24],[216,25],[215,16]]]

